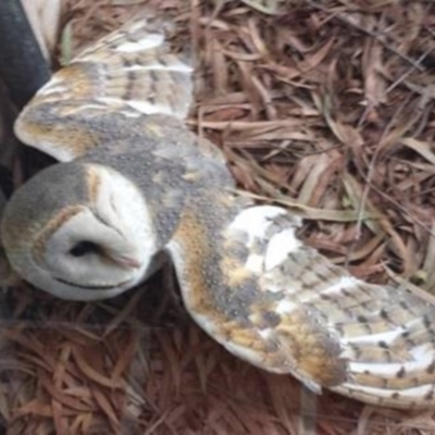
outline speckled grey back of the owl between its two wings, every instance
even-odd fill
[[[108,138],[77,162],[112,167],[147,192],[153,228],[163,247],[186,202],[199,191],[207,195],[215,186],[229,191],[235,185],[227,167],[209,153],[211,146],[203,150],[198,137],[177,120],[149,115],[139,126],[139,132],[132,134],[130,129],[128,137]]]

